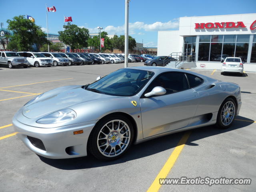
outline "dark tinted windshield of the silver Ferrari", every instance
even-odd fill
[[[86,89],[114,96],[137,94],[152,78],[154,72],[137,69],[120,69],[88,85]]]

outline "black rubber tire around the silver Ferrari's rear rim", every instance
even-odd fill
[[[228,124],[228,125],[224,125],[223,122],[222,122],[222,119],[221,119],[221,116],[222,116],[222,109],[223,109],[223,106],[227,103],[227,102],[232,102],[233,105],[234,105],[234,117],[232,119],[232,121]],[[226,98],[224,100],[224,102],[222,102],[221,106],[220,106],[220,109],[218,111],[218,116],[217,116],[217,120],[216,120],[216,126],[218,128],[221,128],[221,129],[226,129],[226,128],[229,128],[233,122],[234,122],[234,119],[236,117],[236,111],[237,111],[237,106],[236,106],[236,102],[234,101],[234,99],[232,98]]]

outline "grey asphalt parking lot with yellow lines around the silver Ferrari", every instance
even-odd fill
[[[256,191],[256,73],[224,76],[218,70],[189,69],[240,85],[242,108],[231,128],[208,126],[156,138],[132,146],[112,162],[92,156],[43,158],[15,136],[12,117],[36,95],[60,86],[88,84],[123,66],[0,66],[0,191]],[[182,176],[251,178],[252,184],[160,186],[158,182]]]

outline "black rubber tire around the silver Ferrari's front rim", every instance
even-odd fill
[[[128,143],[128,146],[123,150],[123,152],[121,152],[121,154],[114,156],[114,157],[107,157],[107,156],[104,156],[98,149],[97,139],[98,139],[98,135],[99,135],[99,132],[102,129],[102,127],[106,123],[110,122],[111,120],[122,120],[123,122],[125,122],[128,125],[128,127],[130,128],[130,141]],[[90,151],[90,153],[93,156],[95,156],[99,160],[103,160],[103,161],[115,160],[127,152],[127,150],[130,148],[130,145],[133,142],[133,137],[134,137],[134,128],[128,118],[126,118],[125,116],[122,116],[122,115],[108,116],[106,118],[101,119],[94,126],[94,128],[89,136],[88,150]],[[108,141],[106,141],[106,142],[108,142]]]

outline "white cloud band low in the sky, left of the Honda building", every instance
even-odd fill
[[[136,34],[136,30],[144,30],[144,31],[160,31],[160,30],[171,30],[174,28],[178,28],[179,26],[179,19],[173,19],[168,22],[154,22],[152,24],[145,24],[144,22],[134,22],[129,23],[129,34]],[[88,28],[86,26],[79,26],[80,28]],[[90,33],[98,33],[98,29],[95,28],[88,28]],[[103,28],[103,31],[108,32],[108,34],[124,34],[124,25],[122,26],[106,26]],[[139,32],[139,35],[144,33]]]

